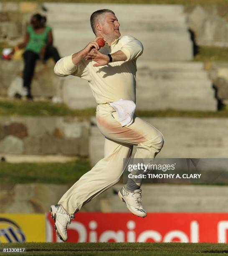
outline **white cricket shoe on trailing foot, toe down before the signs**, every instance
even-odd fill
[[[66,230],[71,223],[71,219],[74,218],[74,214],[70,215],[62,205],[51,205],[50,212],[51,218],[55,222],[56,233],[65,242],[68,239]]]

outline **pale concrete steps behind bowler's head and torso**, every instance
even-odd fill
[[[143,109],[146,107],[145,102],[148,102],[147,106],[151,109],[190,109],[194,102],[194,110],[206,110],[207,107],[208,110],[216,109],[215,93],[204,64],[188,61],[193,57],[193,47],[183,6],[91,3],[44,5],[48,9],[48,23],[53,26],[55,42],[63,56],[83,49],[93,40],[89,18],[91,13],[102,8],[109,8],[116,13],[122,36],[132,35],[142,41],[144,53],[137,61],[137,108]],[[63,95],[64,102],[72,108],[96,105],[85,81],[64,83]],[[162,99],[160,106],[157,97]],[[181,99],[182,104],[179,102]],[[154,106],[149,103],[151,100],[154,100]]]

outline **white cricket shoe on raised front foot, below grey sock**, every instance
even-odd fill
[[[139,217],[146,217],[147,212],[142,207],[142,190],[136,189],[134,191],[129,191],[126,188],[126,185],[119,190],[118,196],[119,198],[126,203],[127,209],[132,212],[134,215]]]

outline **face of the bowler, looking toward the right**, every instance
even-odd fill
[[[119,38],[119,22],[117,17],[112,13],[104,13],[103,22],[101,23],[101,33],[104,36]]]

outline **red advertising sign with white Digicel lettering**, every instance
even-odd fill
[[[60,242],[48,214],[47,241]],[[228,213],[76,213],[68,242],[227,243]]]

